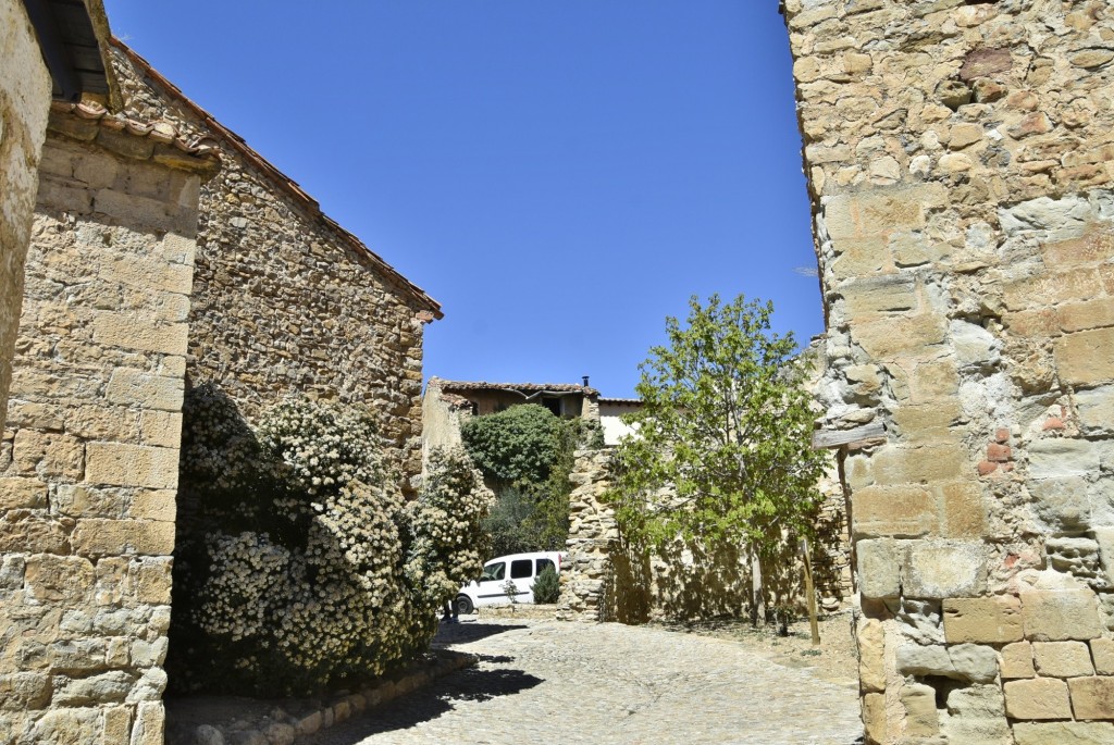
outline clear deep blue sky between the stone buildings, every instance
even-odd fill
[[[776,0],[105,4],[442,304],[427,378],[628,396],[692,294],[822,331]]]

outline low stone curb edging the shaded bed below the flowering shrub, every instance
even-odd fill
[[[408,669],[362,688],[358,693],[340,693],[309,704],[292,715],[278,704],[270,713],[256,717],[254,722],[236,719],[232,723],[212,723],[190,726],[174,732],[168,722],[166,745],[293,745],[304,735],[344,722],[355,714],[412,693],[450,673],[470,667],[477,663],[473,655],[447,649],[430,653],[433,659],[416,663]],[[315,705],[315,706],[314,706]],[[290,706],[287,704],[287,706]]]

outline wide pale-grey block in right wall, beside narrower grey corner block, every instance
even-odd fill
[[[986,589],[986,557],[980,543],[911,541],[901,568],[901,590],[909,598],[952,598]]]

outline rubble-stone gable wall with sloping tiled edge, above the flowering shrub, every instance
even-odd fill
[[[404,490],[421,471],[423,324],[438,304],[119,42],[128,111],[221,151],[201,193],[187,382],[253,422],[285,393],[368,405]]]

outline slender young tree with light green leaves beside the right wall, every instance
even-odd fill
[[[627,540],[730,541],[751,556],[751,618],[765,616],[762,561],[812,535],[828,453],[811,448],[808,365],[792,333],[770,330],[771,303],[693,296],[686,325],[639,365],[638,434],[616,450],[606,494]]]

